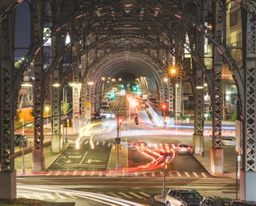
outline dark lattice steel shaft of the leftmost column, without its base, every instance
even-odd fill
[[[14,170],[14,112],[12,78],[14,76],[13,12],[0,22],[0,154],[1,172]]]

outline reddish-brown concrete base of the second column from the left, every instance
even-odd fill
[[[33,172],[42,172],[45,169],[45,159],[44,159],[44,148],[33,149],[32,159],[33,159]]]

